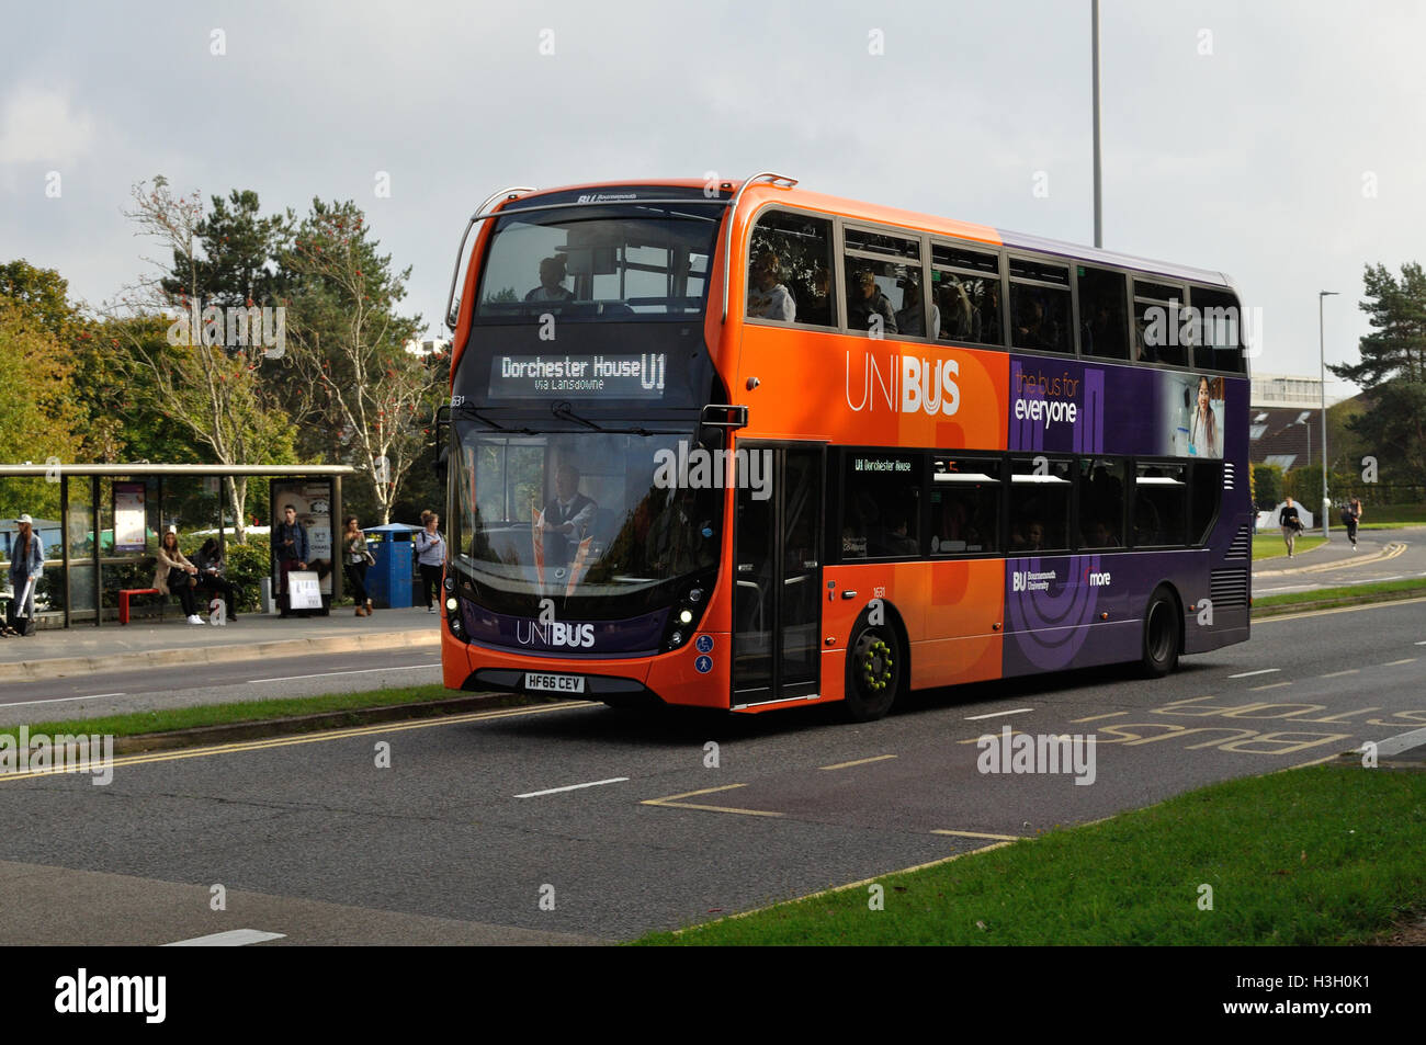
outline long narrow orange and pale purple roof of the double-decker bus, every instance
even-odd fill
[[[627,180],[627,181],[602,181],[602,182],[588,182],[580,185],[559,185],[555,188],[540,188],[535,192],[526,192],[520,198],[530,200],[538,195],[545,195],[548,192],[568,192],[578,188],[623,188],[623,187],[642,187],[642,185],[666,185],[669,188],[703,188],[707,181],[699,178],[647,178],[647,180]],[[742,181],[720,180],[717,187],[720,192],[736,192],[743,185]],[[970,240],[974,242],[1002,245],[1008,249],[1021,251],[1035,251],[1040,254],[1052,254],[1062,257],[1065,259],[1084,261],[1092,265],[1109,265],[1114,268],[1129,268],[1139,272],[1147,272],[1152,275],[1161,275],[1171,279],[1184,279],[1199,284],[1208,284],[1212,287],[1232,287],[1232,281],[1224,274],[1205,268],[1194,268],[1192,265],[1178,265],[1168,261],[1156,261],[1154,258],[1141,258],[1132,254],[1119,254],[1118,251],[1107,251],[1097,247],[1085,247],[1082,244],[1065,242],[1062,240],[1048,240],[1045,237],[1030,235],[1028,232],[1014,232],[1010,230],[997,228],[994,225],[981,225],[970,221],[957,221],[954,218],[937,217],[934,214],[921,214],[918,211],[904,211],[897,207],[884,207],[880,204],[868,204],[860,200],[847,200],[843,197],[826,195],[823,192],[814,192],[811,190],[804,190],[799,187],[787,188],[784,185],[774,185],[770,182],[757,182],[747,187],[743,194],[744,200],[756,207],[767,202],[769,200],[783,200],[793,207],[807,207],[810,210],[823,211],[826,214],[836,214],[846,218],[874,221],[878,224],[900,225],[901,228],[915,230],[923,232],[931,232],[935,235],[945,235],[957,240]]]

